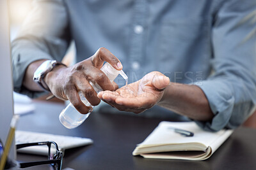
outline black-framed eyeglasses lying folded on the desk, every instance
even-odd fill
[[[29,146],[40,146],[46,145],[48,146],[48,160],[35,161],[35,162],[19,162],[20,168],[31,167],[31,166],[39,166],[44,164],[51,164],[51,166],[55,170],[61,170],[63,152],[61,152],[58,148],[58,145],[54,141],[45,141],[38,143],[24,143],[16,145],[16,149],[25,148]]]

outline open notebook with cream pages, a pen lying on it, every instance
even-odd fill
[[[173,129],[193,132],[193,136],[181,135]],[[195,122],[160,122],[154,131],[137,145],[132,155],[148,159],[205,160],[224,143],[232,130],[204,131]]]

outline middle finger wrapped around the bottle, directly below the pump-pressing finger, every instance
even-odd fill
[[[102,90],[115,90],[113,83],[109,80],[108,76],[104,74],[100,69],[97,67],[87,67],[84,70],[84,74],[86,74],[86,78],[88,81],[92,81],[93,83],[97,83]]]

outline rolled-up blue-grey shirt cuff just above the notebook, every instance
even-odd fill
[[[223,83],[223,80],[205,80],[193,83],[193,85],[203,90],[214,114],[211,121],[195,121],[196,124],[206,131],[220,131],[227,127],[235,103],[232,87],[228,87],[226,83]]]

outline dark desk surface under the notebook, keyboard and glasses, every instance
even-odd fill
[[[256,130],[253,129],[239,127],[208,160],[143,159],[133,157],[132,151],[163,119],[92,113],[81,126],[66,129],[58,121],[63,105],[35,104],[35,113],[21,117],[17,129],[94,141],[93,145],[67,150],[63,169],[256,169]],[[18,153],[17,159],[31,161],[44,157]],[[49,169],[49,166],[28,169]]]

